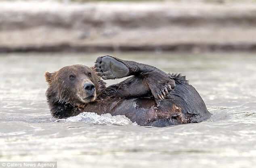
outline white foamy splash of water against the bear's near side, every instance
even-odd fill
[[[88,124],[97,125],[137,125],[136,122],[132,122],[126,116],[112,116],[111,114],[98,115],[94,112],[82,112],[77,116],[72,116],[64,120],[71,122],[83,121]]]

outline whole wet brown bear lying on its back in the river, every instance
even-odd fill
[[[106,87],[102,79],[130,78]],[[45,73],[47,102],[53,117],[81,112],[125,115],[141,126],[165,127],[210,117],[204,101],[185,76],[111,56],[94,67],[76,64]]]

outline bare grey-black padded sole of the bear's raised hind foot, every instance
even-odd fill
[[[126,77],[129,73],[129,69],[125,64],[111,56],[98,57],[94,67],[102,79],[122,78]]]

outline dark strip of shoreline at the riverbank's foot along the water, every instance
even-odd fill
[[[256,52],[256,44],[170,44],[158,46],[71,46],[59,44],[55,46],[22,46],[3,47],[0,53],[13,52]]]

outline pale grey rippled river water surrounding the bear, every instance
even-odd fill
[[[187,75],[213,116],[165,128],[108,114],[51,118],[44,72],[92,66],[106,54]],[[57,161],[61,168],[256,167],[255,54],[2,54],[0,67],[0,161]]]

